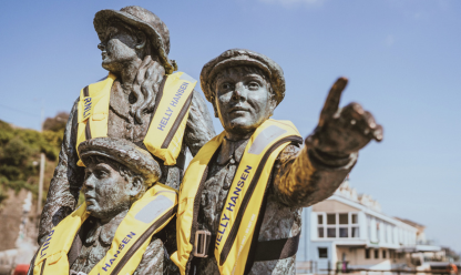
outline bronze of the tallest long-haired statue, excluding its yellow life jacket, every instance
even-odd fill
[[[143,147],[143,140],[150,130],[151,120],[154,114],[156,115],[155,110],[158,106],[165,80],[176,70],[176,63],[167,57],[170,52],[168,29],[154,13],[135,6],[120,11],[99,11],[94,18],[94,29],[101,40],[98,48],[102,51],[102,67],[110,72],[109,78],[113,79],[109,109],[102,114],[102,118],[106,120],[106,136],[124,139]],[[43,243],[53,225],[74,210],[79,198],[84,181],[84,167],[78,165],[79,124],[89,125],[90,120],[92,123],[99,120],[93,116],[85,122],[79,114],[79,101],[92,98],[91,94],[90,96],[85,94],[88,92],[88,86],[82,90],[81,98],[75,101],[65,128],[59,163],[50,183],[40,221],[40,244]],[[180,144],[181,153],[176,164],[165,165],[163,161],[157,160],[162,170],[160,182],[175,189],[178,189],[183,175],[185,149],[188,147],[195,155],[201,146],[215,135],[205,101],[195,90],[191,98],[189,111],[185,112],[188,116],[186,116],[185,130],[181,133],[184,134],[184,139],[182,146]],[[81,105],[81,109],[83,108],[86,111],[86,105]],[[83,110],[80,111],[83,112]],[[85,129],[83,134],[86,135],[86,140],[92,138],[93,129],[89,129],[91,131]]]

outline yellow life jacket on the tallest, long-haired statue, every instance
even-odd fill
[[[80,91],[76,147],[85,140],[107,136],[109,101],[115,75],[90,84]],[[196,80],[184,72],[165,75],[155,99],[153,118],[144,145],[165,165],[176,164]],[[79,166],[84,166],[81,160]]]

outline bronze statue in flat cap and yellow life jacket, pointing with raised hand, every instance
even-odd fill
[[[192,160],[180,191],[182,274],[295,274],[301,208],[330,196],[358,151],[382,128],[357,104],[339,109],[347,80],[328,94],[318,126],[303,139],[269,119],[285,95],[281,68],[249,50],[228,50],[202,70],[201,84],[224,132]]]

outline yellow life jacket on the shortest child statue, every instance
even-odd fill
[[[89,275],[133,274],[151,243],[175,215],[177,194],[172,187],[156,183],[133,205],[115,231],[111,248]],[[89,217],[83,203],[62,220],[40,247],[33,275],[69,275],[68,253],[83,222]]]

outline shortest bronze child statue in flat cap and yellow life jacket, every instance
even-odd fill
[[[84,141],[79,153],[85,202],[53,227],[29,274],[173,274],[174,223],[165,226],[177,193],[157,183],[158,163],[123,139]]]

